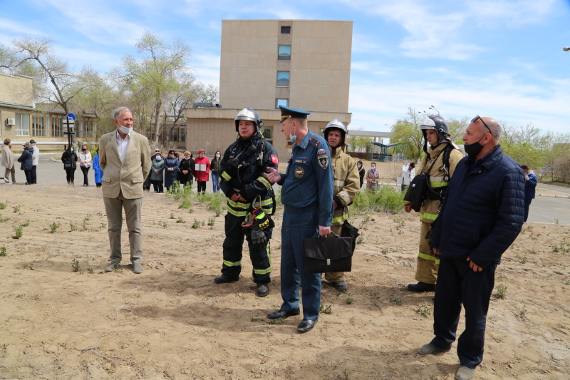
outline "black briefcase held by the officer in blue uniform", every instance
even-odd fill
[[[303,265],[306,273],[351,272],[352,238],[309,237],[303,240]]]

